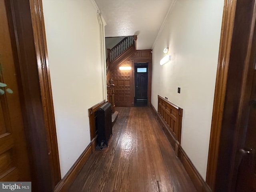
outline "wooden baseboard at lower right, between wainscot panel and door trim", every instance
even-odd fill
[[[190,179],[192,180],[194,186],[196,187],[196,190],[198,192],[212,192],[208,184],[204,181],[202,176],[196,170],[195,166],[188,158],[188,155],[181,146],[178,153],[178,158],[180,158],[180,161],[182,162],[184,168],[186,169],[188,175],[190,176]]]

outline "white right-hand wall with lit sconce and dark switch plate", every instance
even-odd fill
[[[152,104],[157,109],[159,94],[184,109],[181,146],[204,179],[223,6],[224,0],[176,0],[152,54]],[[160,66],[166,47],[172,60]]]

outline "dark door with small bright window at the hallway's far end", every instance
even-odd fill
[[[148,95],[148,70],[147,68],[135,68],[135,100],[147,100]],[[140,69],[143,72],[140,72]],[[144,72],[145,71],[145,72]]]

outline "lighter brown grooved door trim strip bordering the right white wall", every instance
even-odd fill
[[[214,191],[236,0],[224,0],[206,183]]]

